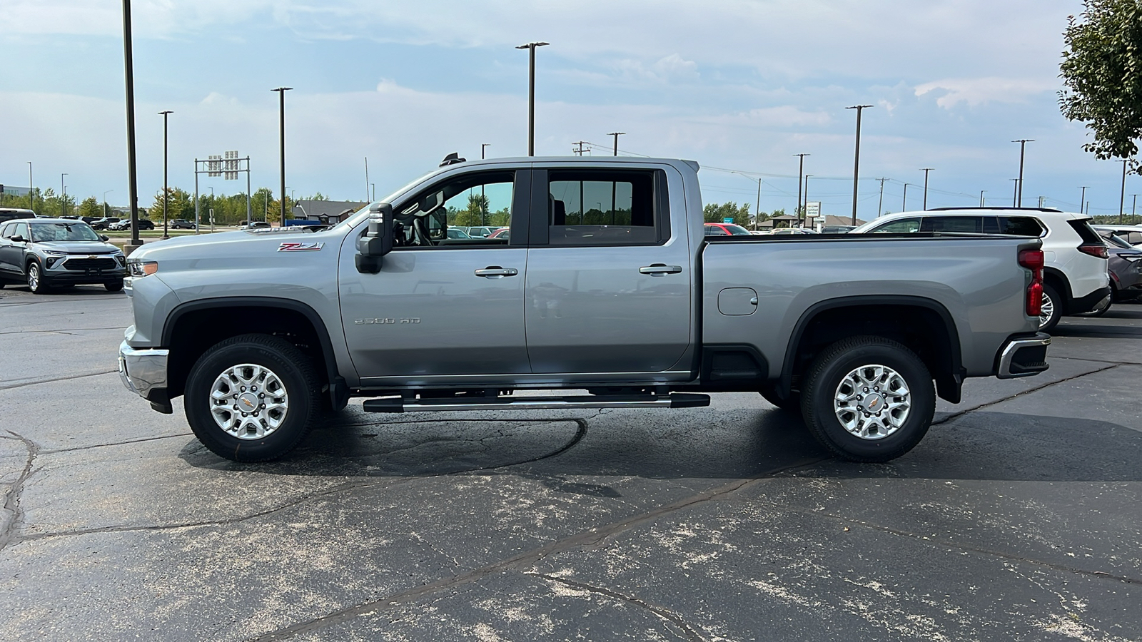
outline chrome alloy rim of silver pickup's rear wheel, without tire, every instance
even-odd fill
[[[841,379],[833,395],[833,411],[851,434],[884,439],[900,430],[912,407],[904,378],[887,366],[855,368]]]

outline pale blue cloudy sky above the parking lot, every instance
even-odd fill
[[[797,158],[810,200],[851,209],[855,118],[861,217],[922,203],[1011,204],[1019,145],[1026,204],[1117,214],[1120,164],[1081,151],[1057,109],[1061,32],[1079,0],[135,0],[140,204],[193,188],[193,159],[250,154],[278,178],[287,95],[287,184],[298,196],[378,196],[449,152],[526,152],[528,55],[537,53],[536,152],[586,141],[610,153],[699,161],[706,202],[791,209]],[[0,183],[127,201],[122,13],[118,0],[0,0]],[[737,170],[734,174],[726,170]],[[880,182],[887,178],[880,200]],[[232,193],[236,182],[203,179]],[[1129,194],[1142,178],[1128,177]]]

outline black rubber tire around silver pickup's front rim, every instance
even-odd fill
[[[273,371],[288,396],[278,428],[256,439],[239,439],[224,431],[215,422],[216,404],[210,396],[220,375],[244,363]],[[296,346],[270,335],[242,335],[215,345],[199,358],[187,376],[183,406],[194,435],[215,455],[234,462],[270,462],[293,450],[308,434],[321,415],[319,390],[313,364]]]

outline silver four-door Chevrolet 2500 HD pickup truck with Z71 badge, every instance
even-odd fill
[[[286,455],[349,398],[679,408],[741,391],[839,457],[885,462],[965,377],[1047,368],[1039,239],[702,223],[692,161],[445,159],[331,227],[147,243],[128,260],[120,374],[160,412],[184,396],[195,435],[239,462]]]

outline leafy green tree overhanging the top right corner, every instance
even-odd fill
[[[1081,22],[1068,19],[1059,105],[1086,123],[1095,158],[1129,159],[1142,137],[1142,0],[1085,0]],[[1131,161],[1140,172],[1139,163]]]

